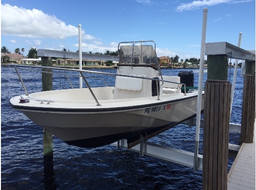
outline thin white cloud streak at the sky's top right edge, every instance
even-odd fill
[[[195,0],[192,3],[182,3],[180,6],[177,6],[176,11],[182,12],[198,9],[203,6],[214,6],[221,3],[232,3],[232,0]]]

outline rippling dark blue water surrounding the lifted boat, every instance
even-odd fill
[[[112,72],[115,69],[94,69]],[[193,69],[195,84],[198,69]],[[164,69],[163,75],[178,75],[180,70]],[[231,69],[231,83],[234,69]],[[40,91],[41,74],[28,70],[20,71],[29,93]],[[238,69],[232,123],[241,123],[243,77]],[[87,74],[87,76],[95,76]],[[115,77],[102,76],[109,86]],[[70,77],[75,88],[79,87],[76,76]],[[207,80],[204,74],[203,84]],[[92,86],[103,85],[102,81]],[[76,83],[76,84],[75,84]],[[54,89],[70,88],[67,79],[54,75]],[[68,146],[54,136],[54,177],[43,175],[43,131],[32,121],[9,106],[9,99],[24,94],[24,89],[14,69],[1,67],[1,189],[202,189],[202,171],[153,158],[115,146],[79,148]],[[47,118],[42,118],[47,119]],[[202,154],[202,129],[200,130],[199,153]],[[238,133],[229,133],[229,143],[238,144]],[[152,139],[150,142],[194,152],[195,127],[179,125]],[[234,158],[229,158],[229,168]]]

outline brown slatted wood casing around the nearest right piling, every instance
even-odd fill
[[[203,190],[226,190],[231,84],[207,80],[204,92]]]

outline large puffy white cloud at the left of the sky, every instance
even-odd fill
[[[78,36],[78,27],[67,25],[54,15],[48,15],[38,9],[29,10],[1,4],[1,34],[27,38],[66,39]],[[84,30],[82,34],[85,34]],[[94,39],[90,35],[85,35],[85,38]]]

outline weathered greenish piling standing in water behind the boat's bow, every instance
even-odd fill
[[[42,66],[52,67],[52,57],[41,57]],[[42,71],[52,71],[48,69],[42,69]],[[42,90],[48,91],[53,89],[53,74],[42,72]],[[47,119],[47,118],[44,118]],[[54,171],[53,161],[53,135],[46,129],[43,131],[43,155],[44,155],[44,176],[51,177]]]

